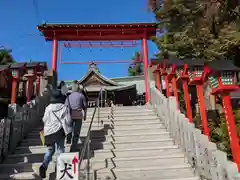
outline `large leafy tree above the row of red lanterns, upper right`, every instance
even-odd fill
[[[161,53],[207,61],[222,56],[238,59],[238,1],[166,0],[155,14],[165,31],[153,38]]]

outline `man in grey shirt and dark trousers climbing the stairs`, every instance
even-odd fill
[[[82,93],[79,92],[79,85],[73,84],[72,93],[66,98],[65,104],[69,107],[71,112],[71,118],[73,120],[73,133],[68,136],[67,143],[71,141],[71,152],[76,150],[78,141],[80,138],[80,132],[82,127],[82,120],[86,120],[87,117],[87,102]]]

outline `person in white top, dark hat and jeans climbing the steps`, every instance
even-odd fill
[[[39,168],[42,178],[46,177],[46,171],[55,151],[58,155],[64,152],[65,136],[72,132],[72,120],[69,108],[63,103],[60,90],[51,92],[50,104],[46,107],[43,116],[45,145],[48,147],[44,160]]]

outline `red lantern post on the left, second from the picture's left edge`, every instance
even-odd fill
[[[11,104],[16,103],[17,91],[19,89],[18,84],[20,78],[23,76],[26,70],[26,63],[14,63],[10,64],[10,70],[12,71],[12,95],[11,95]]]

